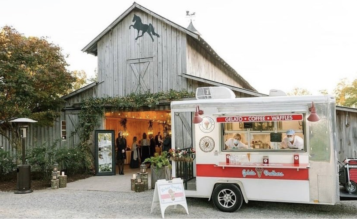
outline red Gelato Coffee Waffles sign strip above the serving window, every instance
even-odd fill
[[[222,116],[217,122],[267,122],[267,121],[301,121],[302,114],[260,115],[260,116]]]

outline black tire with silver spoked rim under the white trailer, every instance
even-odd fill
[[[243,203],[241,190],[234,184],[218,185],[212,193],[213,204],[222,212],[235,212]]]

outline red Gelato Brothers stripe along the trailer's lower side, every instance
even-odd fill
[[[246,179],[308,180],[309,170],[301,168],[217,167],[215,164],[196,164],[197,177],[228,177]]]

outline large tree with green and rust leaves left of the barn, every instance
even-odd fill
[[[60,97],[75,81],[61,50],[44,37],[25,37],[10,26],[0,29],[0,134],[17,149],[19,132],[9,121],[27,117],[52,125],[60,114]]]

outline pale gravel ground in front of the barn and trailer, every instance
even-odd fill
[[[150,213],[154,189],[146,192],[103,192],[44,189],[27,194],[0,192],[0,218],[161,218],[160,208]],[[240,210],[225,213],[207,199],[186,198],[183,207],[170,206],[165,218],[356,218],[357,201],[337,205],[277,202],[243,203]]]

